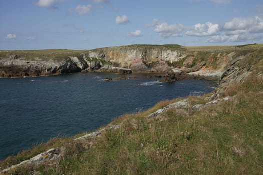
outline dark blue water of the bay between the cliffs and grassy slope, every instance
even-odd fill
[[[0,159],[58,135],[75,135],[164,99],[211,92],[208,80],[158,83],[149,74],[105,82],[120,75],[76,73],[0,79]]]

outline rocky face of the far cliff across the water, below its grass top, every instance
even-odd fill
[[[36,51],[37,52],[37,51]],[[51,51],[52,52],[52,51]],[[61,55],[60,55],[61,54]],[[208,57],[213,53],[207,52]],[[5,55],[3,57],[3,55]],[[119,74],[134,72],[166,72],[174,68],[183,72],[210,70],[207,61],[196,61],[196,53],[162,46],[119,46],[74,53],[61,53],[54,57],[35,57],[27,53],[9,51],[0,55],[0,77],[46,76],[74,72],[104,71]],[[58,56],[57,55],[57,56]],[[231,54],[218,54],[215,70],[223,70]],[[199,58],[198,58],[199,59]],[[196,62],[194,65],[193,62]],[[189,68],[190,67],[190,68]],[[211,74],[212,76],[213,74]]]

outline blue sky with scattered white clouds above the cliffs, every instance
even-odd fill
[[[263,43],[262,0],[0,0],[0,50]]]

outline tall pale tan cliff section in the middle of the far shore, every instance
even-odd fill
[[[187,56],[187,51],[165,47],[120,46],[91,50],[88,51],[88,56],[111,62],[122,68],[130,68],[134,60],[140,58],[149,64],[160,60],[178,62]]]

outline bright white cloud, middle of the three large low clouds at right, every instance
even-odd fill
[[[204,24],[194,25],[192,30],[186,32],[189,36],[213,36],[217,35],[219,32],[219,25],[213,24],[211,22],[206,22]]]

